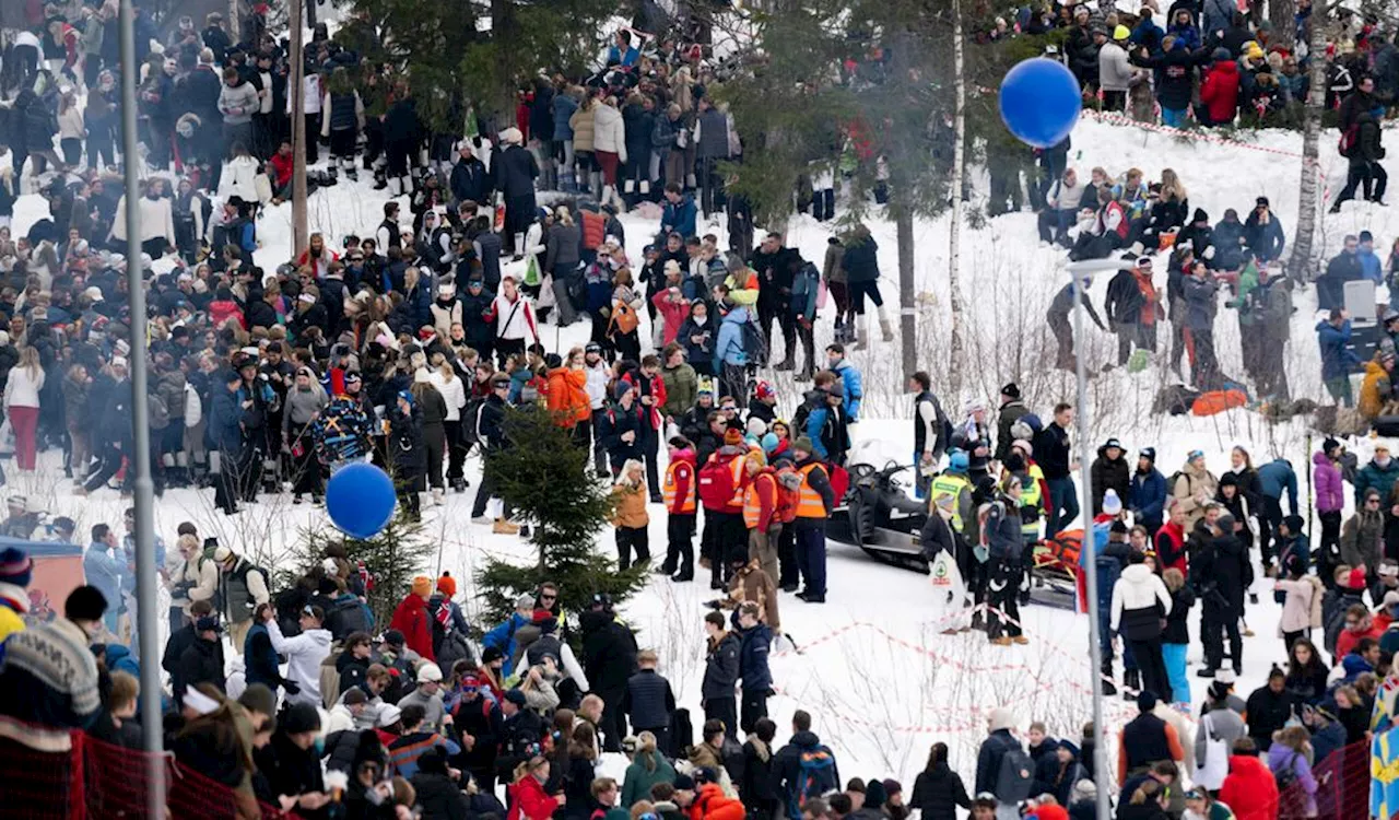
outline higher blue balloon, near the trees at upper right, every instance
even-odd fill
[[[1000,81],[1000,119],[1020,141],[1051,148],[1079,122],[1083,91],[1063,63],[1031,57]]]

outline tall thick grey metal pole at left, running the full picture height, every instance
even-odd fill
[[[141,735],[145,742],[147,816],[165,816],[165,756],[161,726],[159,623],[155,595],[155,528],[151,521],[151,428],[145,375],[145,270],[141,264],[141,155],[136,141],[136,11],[122,0],[122,161],[126,172],[126,291],[132,308],[132,452],[126,453],[136,473],[136,628],[141,645]],[[119,602],[108,602],[116,606]],[[176,693],[178,694],[178,693]]]

